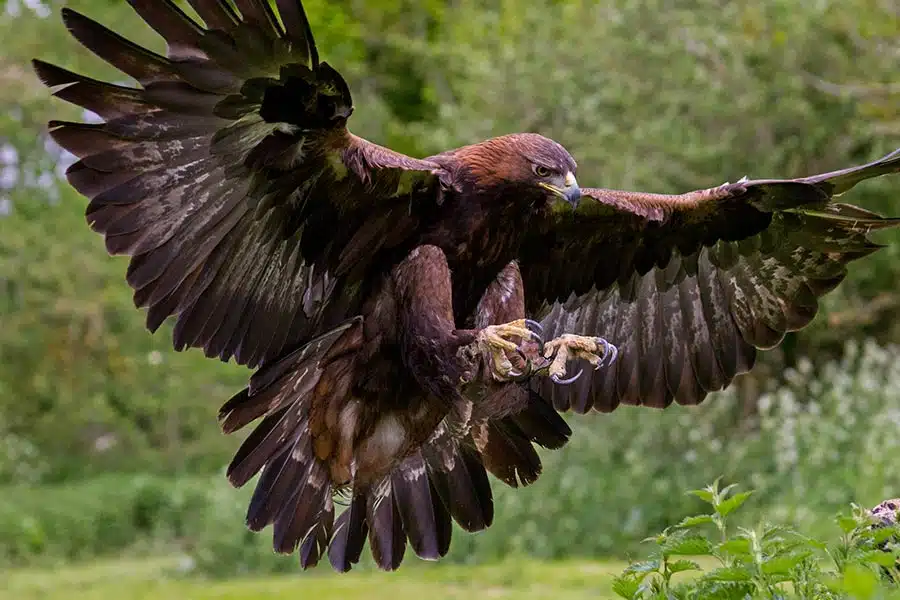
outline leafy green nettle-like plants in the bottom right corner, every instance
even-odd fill
[[[734,487],[720,490],[716,480],[690,492],[712,514],[688,517],[645,540],[654,545],[649,559],[630,564],[616,578],[616,594],[626,600],[900,598],[900,552],[894,544],[884,546],[897,539],[896,527],[873,529],[868,512],[854,506],[851,515],[837,518],[839,537],[833,542],[767,523],[735,529],[728,515],[750,493],[732,494]],[[683,555],[714,567],[704,570]],[[692,574],[686,580],[675,577],[687,571]]]

